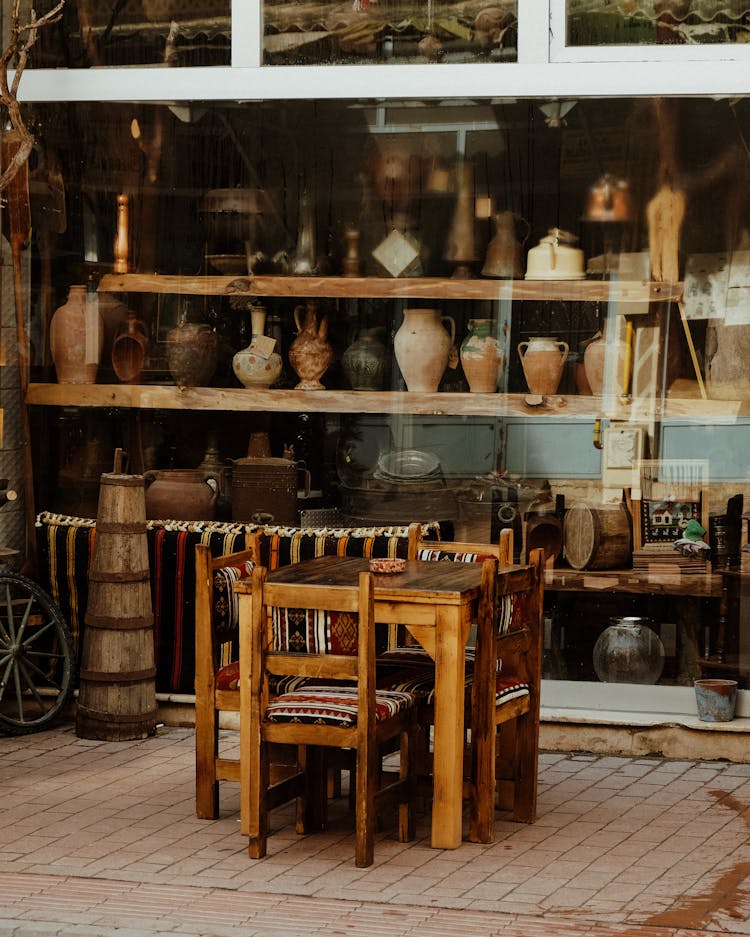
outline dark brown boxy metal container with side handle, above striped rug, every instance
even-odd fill
[[[308,497],[310,473],[303,462],[235,459],[232,463],[232,520],[243,524],[297,526],[300,481],[303,481],[305,497]]]

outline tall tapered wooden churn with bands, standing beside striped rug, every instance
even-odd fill
[[[156,731],[156,667],[142,475],[102,475],[81,652],[76,735]]]

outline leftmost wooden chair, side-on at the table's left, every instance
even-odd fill
[[[257,534],[248,548],[214,557],[206,544],[195,548],[195,812],[219,816],[219,782],[239,781],[239,759],[219,755],[219,713],[240,711],[239,630],[236,579],[259,561]]]

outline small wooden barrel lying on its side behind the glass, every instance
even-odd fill
[[[565,558],[573,569],[630,566],[630,515],[625,505],[575,504],[565,514]]]

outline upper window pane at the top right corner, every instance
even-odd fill
[[[569,46],[703,45],[750,38],[748,0],[566,0]]]

